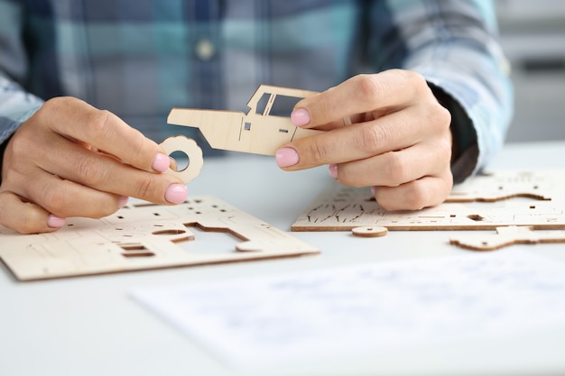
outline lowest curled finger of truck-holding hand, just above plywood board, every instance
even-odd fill
[[[424,177],[398,187],[376,187],[375,200],[384,209],[421,210],[440,205],[453,187],[450,172],[440,177]]]

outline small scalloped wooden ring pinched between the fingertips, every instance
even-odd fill
[[[175,151],[182,151],[188,157],[189,164],[183,170],[171,170],[167,172],[176,175],[183,182],[188,183],[190,180],[199,176],[200,170],[204,165],[204,160],[202,158],[202,149],[200,149],[197,143],[185,136],[173,136],[166,138],[163,142],[159,144],[162,150],[165,151],[169,156]]]

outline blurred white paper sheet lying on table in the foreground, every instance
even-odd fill
[[[505,250],[139,289],[244,367],[565,326],[565,264]]]

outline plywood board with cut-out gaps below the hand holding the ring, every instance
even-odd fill
[[[199,243],[191,227],[234,235],[243,243],[218,252]],[[216,197],[179,206],[128,204],[102,219],[69,218],[50,234],[16,234],[0,227],[0,258],[18,280],[45,280],[122,271],[317,254],[316,247]],[[187,241],[193,240],[193,243]],[[187,250],[194,250],[190,252]],[[199,252],[206,249],[206,252]],[[242,252],[245,251],[245,252]]]

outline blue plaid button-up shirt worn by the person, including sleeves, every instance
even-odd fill
[[[467,176],[512,114],[496,32],[485,0],[0,0],[0,142],[53,96],[160,142],[180,132],[174,106],[244,110],[260,84],[321,91],[402,68],[451,110]]]

